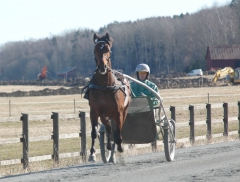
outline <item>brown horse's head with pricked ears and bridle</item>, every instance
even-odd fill
[[[113,39],[109,37],[108,33],[102,37],[94,34],[93,42],[95,43],[94,55],[97,69],[100,74],[105,74],[107,69],[111,68],[110,55]]]

